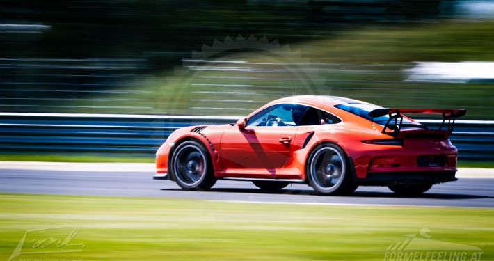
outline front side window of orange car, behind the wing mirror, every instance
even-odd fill
[[[247,126],[298,126],[308,108],[298,104],[276,104],[250,117]]]

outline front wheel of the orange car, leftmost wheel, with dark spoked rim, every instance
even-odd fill
[[[175,182],[182,189],[206,191],[216,183],[211,157],[196,141],[186,141],[177,147],[171,167]]]

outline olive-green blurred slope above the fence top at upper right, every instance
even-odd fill
[[[493,21],[346,27],[331,38],[303,42],[296,47],[311,61],[329,63],[494,61],[492,31]]]

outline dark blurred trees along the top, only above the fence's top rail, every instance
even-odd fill
[[[273,35],[305,40],[328,24],[395,22],[440,15],[447,0],[158,1],[3,0],[0,24],[42,24],[49,31],[0,33],[3,57],[95,57],[181,52],[225,35]],[[317,33],[314,34],[314,31]],[[166,58],[165,58],[166,57]],[[166,63],[157,63],[165,65]]]

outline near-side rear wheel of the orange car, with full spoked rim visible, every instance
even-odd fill
[[[310,186],[320,195],[348,195],[358,187],[353,183],[349,159],[333,143],[318,145],[307,162]]]

